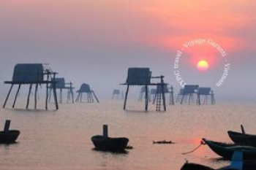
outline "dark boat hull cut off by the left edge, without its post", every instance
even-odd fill
[[[16,139],[20,135],[20,131],[0,131],[0,144],[11,144],[15,143]]]

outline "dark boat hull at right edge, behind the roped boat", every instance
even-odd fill
[[[227,134],[235,144],[256,147],[256,135],[236,131],[227,131]]]

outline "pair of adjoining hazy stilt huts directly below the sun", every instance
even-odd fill
[[[201,102],[203,99],[203,103]],[[179,91],[176,102],[180,104],[208,104],[208,99],[211,104],[215,104],[214,90],[211,88],[199,87],[199,85],[184,85]]]

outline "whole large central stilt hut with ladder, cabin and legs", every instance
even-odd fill
[[[129,91],[130,85],[145,86],[145,110],[148,110],[148,85],[160,85],[161,93],[162,93],[162,100],[161,100],[161,98],[159,98],[159,100],[157,100],[157,111],[160,110],[161,101],[162,101],[164,110],[166,110],[165,90],[164,90],[164,86],[166,84],[165,84],[163,78],[164,78],[164,76],[162,76],[162,75],[158,76],[158,77],[152,77],[151,71],[149,70],[149,68],[129,68],[127,81],[124,84],[122,84],[122,85],[127,85],[127,91],[126,91],[125,97],[124,97],[124,109],[126,109],[127,96],[128,96],[128,91]],[[160,79],[160,82],[151,83],[151,79]]]

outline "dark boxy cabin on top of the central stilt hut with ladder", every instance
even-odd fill
[[[127,84],[129,85],[149,85],[151,72],[149,68],[129,68]]]

